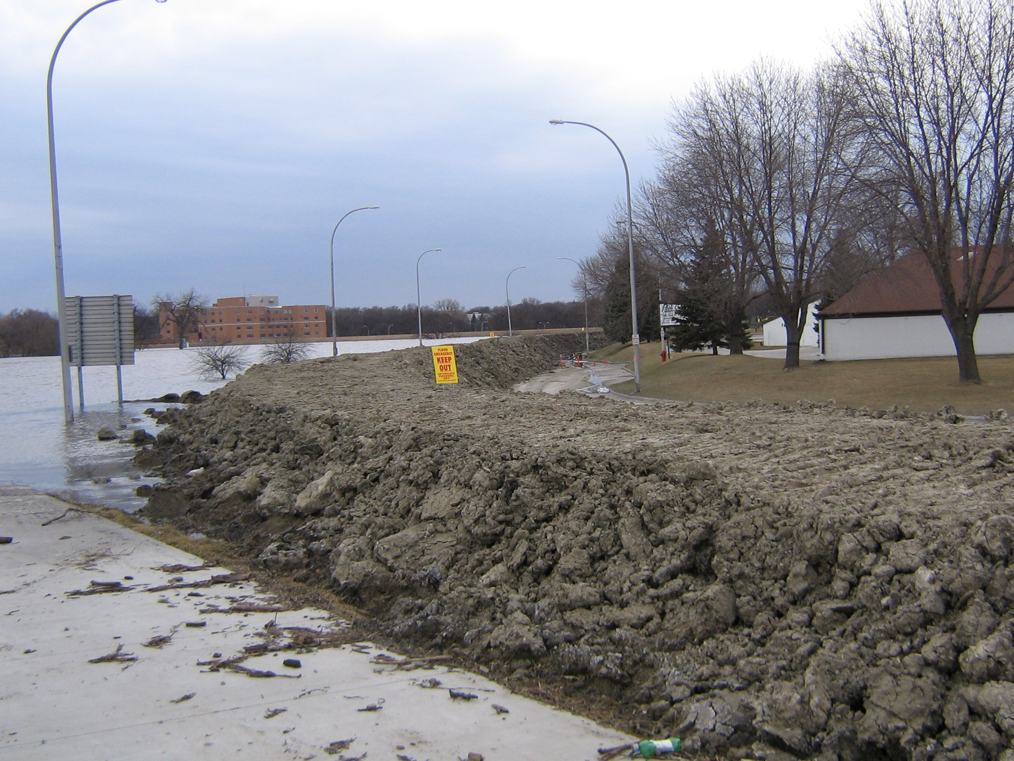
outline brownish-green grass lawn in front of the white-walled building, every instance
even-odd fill
[[[642,396],[695,402],[767,402],[797,400],[886,409],[908,405],[936,412],[951,405],[964,415],[1006,409],[1014,413],[1014,356],[981,356],[983,383],[959,384],[954,357],[862,359],[852,362],[803,361],[785,371],[783,360],[751,356],[674,354],[659,357],[659,344],[641,345]],[[598,359],[630,362],[633,350],[613,344],[593,354]],[[631,365],[628,365],[629,367]],[[634,383],[613,386],[633,394]]]

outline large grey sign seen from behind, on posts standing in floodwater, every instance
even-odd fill
[[[82,367],[117,366],[118,398],[124,401],[122,365],[134,364],[134,297],[67,296],[67,352],[77,367],[78,397],[84,407]]]

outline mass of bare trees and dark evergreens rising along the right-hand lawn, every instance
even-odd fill
[[[785,320],[790,369],[809,303],[917,252],[958,376],[979,380],[979,317],[1014,282],[1014,4],[874,2],[811,69],[762,60],[699,83],[658,154],[636,210],[642,340],[659,289],[732,351],[763,300]],[[625,341],[627,256],[610,227],[574,280]]]

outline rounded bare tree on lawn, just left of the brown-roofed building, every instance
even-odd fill
[[[752,259],[785,321],[786,369],[799,366],[807,305],[872,222],[847,116],[828,71],[760,61],[700,84],[670,122],[670,160],[693,177],[687,208]]]

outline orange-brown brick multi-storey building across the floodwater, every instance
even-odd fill
[[[159,304],[159,343],[178,343],[179,332],[167,304]],[[279,306],[278,296],[219,298],[202,310],[198,330],[187,334],[192,343],[224,344],[270,342],[294,338],[319,341],[328,337],[328,307],[323,304]]]

